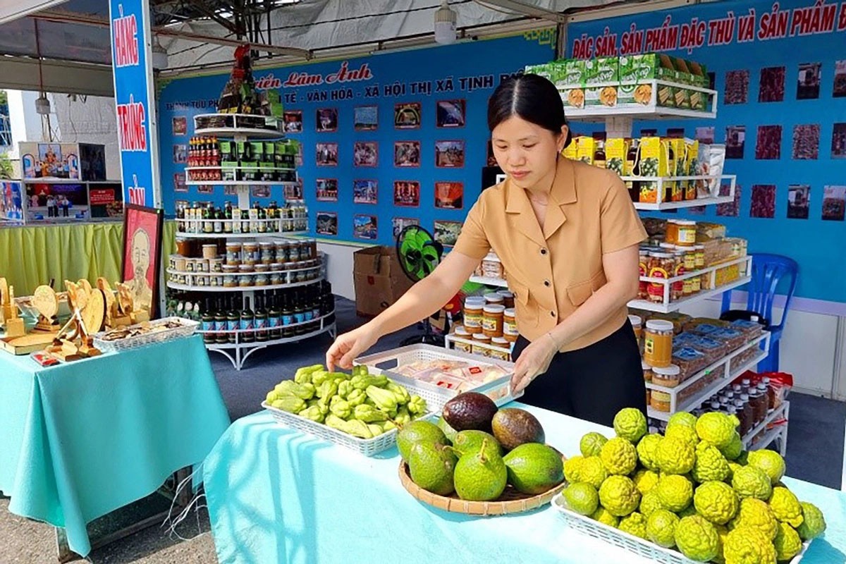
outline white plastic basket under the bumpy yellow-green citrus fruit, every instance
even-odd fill
[[[563,518],[564,523],[568,527],[572,527],[580,533],[587,534],[595,539],[602,539],[609,545],[629,550],[629,552],[634,552],[638,556],[643,556],[651,561],[661,562],[661,564],[700,564],[699,562],[690,560],[676,550],[663,548],[646,539],[636,537],[634,534],[625,533],[618,528],[613,528],[605,523],[595,521],[591,517],[585,517],[584,515],[570,511],[564,503],[563,493],[559,493],[552,498],[552,507]],[[802,544],[802,551],[794,556],[789,564],[799,564],[802,556],[805,555],[805,551],[808,550],[810,542],[809,540]]]

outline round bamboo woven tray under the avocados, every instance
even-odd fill
[[[404,462],[399,463],[399,481],[403,484],[405,490],[411,494],[416,500],[423,501],[437,507],[443,511],[453,513],[466,513],[467,515],[508,515],[509,513],[522,513],[532,511],[538,507],[547,505],[558,492],[563,490],[565,482],[555,486],[552,490],[547,490],[542,494],[532,496],[530,494],[521,494],[514,490],[510,485],[506,486],[503,495],[499,496],[496,501],[464,501],[459,499],[459,496],[453,494],[452,496],[438,496],[431,493],[431,491],[424,490],[419,485],[411,481],[411,474],[409,474],[409,465]]]

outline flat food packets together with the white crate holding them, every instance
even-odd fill
[[[415,386],[435,411],[462,392],[484,393],[497,405],[522,395],[511,392],[513,363],[481,360],[472,354],[432,345],[394,348],[355,359],[354,364],[365,364],[371,373],[387,375],[404,386]],[[460,382],[458,386],[456,381]]]

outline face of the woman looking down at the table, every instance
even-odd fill
[[[491,134],[493,156],[514,184],[530,189],[555,170],[558,154],[567,140],[567,126],[560,134],[512,116],[497,125]]]

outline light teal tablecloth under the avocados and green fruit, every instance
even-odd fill
[[[547,442],[564,453],[578,452],[580,437],[590,430],[613,434],[580,419],[527,409],[541,420]],[[276,424],[267,412],[235,421],[203,464],[218,559],[221,564],[649,562],[565,527],[548,506],[504,517],[434,509],[404,490],[398,463],[396,448],[364,457]],[[812,543],[802,564],[843,562],[846,497],[785,482],[826,513],[825,538]]]

